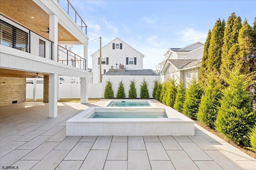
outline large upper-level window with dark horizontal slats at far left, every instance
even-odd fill
[[[28,33],[0,20],[0,44],[28,52]]]

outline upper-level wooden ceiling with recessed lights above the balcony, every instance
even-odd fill
[[[49,14],[32,0],[0,0],[0,13],[49,39],[49,33],[46,33],[49,28]],[[58,41],[78,39],[58,23]]]

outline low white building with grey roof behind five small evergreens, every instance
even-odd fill
[[[137,98],[140,98],[140,86],[143,80],[148,82],[148,92],[150,98],[152,98],[152,92],[154,88],[154,80],[159,81],[159,74],[154,72],[152,69],[142,69],[142,70],[109,70],[102,76],[102,87],[103,87],[103,97],[106,86],[106,81],[110,80],[112,82],[112,88],[114,90],[114,98],[116,98],[116,93],[118,90],[118,83],[122,80],[124,83],[126,98],[128,98],[128,91],[130,89],[130,81],[135,80],[135,86],[137,89]]]

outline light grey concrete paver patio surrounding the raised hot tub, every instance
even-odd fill
[[[22,102],[0,107],[0,167],[19,170],[255,170],[256,160],[195,124],[195,136],[66,137],[66,120],[96,103]],[[162,104],[152,100],[156,105]],[[4,168],[3,168],[4,167]]]

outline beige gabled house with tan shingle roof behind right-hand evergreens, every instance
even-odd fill
[[[190,80],[192,80],[193,76],[198,78],[201,64],[202,64],[202,59],[167,60],[166,63],[164,64],[164,68],[161,72],[161,76],[163,76],[164,81],[174,76],[177,79],[177,83],[179,80],[182,80],[184,87],[188,87],[188,83],[190,82]]]

